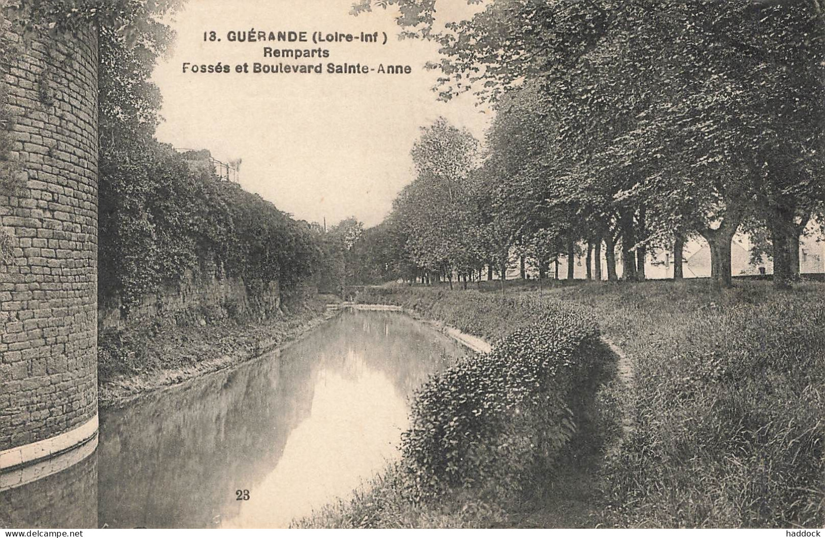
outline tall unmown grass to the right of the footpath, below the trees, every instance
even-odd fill
[[[825,285],[559,288],[634,363],[634,436],[605,469],[614,526],[825,524]]]

